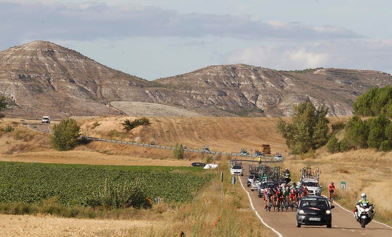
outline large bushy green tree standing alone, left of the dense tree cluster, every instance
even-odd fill
[[[279,118],[275,128],[294,154],[306,153],[328,142],[327,113],[324,105],[316,109],[312,102],[305,101],[294,106],[292,123]]]

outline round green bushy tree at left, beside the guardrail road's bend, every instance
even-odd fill
[[[59,151],[67,151],[78,145],[80,126],[74,119],[62,120],[53,126],[51,143]]]

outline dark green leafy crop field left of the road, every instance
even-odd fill
[[[152,200],[190,202],[211,173],[195,167],[88,166],[0,162],[0,203],[94,206],[108,184],[137,187]]]

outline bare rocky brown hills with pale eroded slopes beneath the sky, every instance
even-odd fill
[[[304,100],[325,104],[329,115],[351,115],[358,95],[391,78],[380,71],[276,71],[239,64],[147,81],[45,41],[0,52],[0,95],[9,98],[5,114],[13,118],[143,116],[143,103],[153,108],[149,117],[154,110],[174,117],[278,117],[289,116]]]

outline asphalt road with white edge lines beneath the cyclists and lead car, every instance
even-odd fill
[[[317,236],[317,237],[392,237],[392,227],[371,221],[366,228],[361,228],[361,225],[355,220],[352,212],[346,211],[337,204],[332,209],[332,228],[327,229],[326,226],[304,226],[300,228],[295,226],[296,212],[284,211],[266,212],[264,209],[264,200],[257,196],[257,191],[250,191],[250,187],[246,187],[246,177],[238,176],[243,189],[248,193],[249,198],[253,204],[255,211],[260,215],[263,221],[276,230],[281,236]],[[377,209],[376,209],[377,216]],[[276,234],[276,236],[279,236]]]

